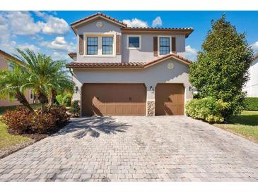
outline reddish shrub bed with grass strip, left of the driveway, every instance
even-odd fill
[[[27,147],[58,132],[69,123],[70,115],[64,106],[55,106],[44,115],[40,109],[31,113],[19,106],[0,116],[0,158]]]

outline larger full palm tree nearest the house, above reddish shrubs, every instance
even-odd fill
[[[16,49],[16,55],[20,61],[25,63],[25,71],[28,73],[28,82],[23,89],[33,89],[41,106],[41,113],[45,112],[45,104],[49,102],[51,108],[57,92],[64,92],[65,89],[73,89],[67,71],[64,70],[64,61],[53,61],[51,57],[25,49]]]

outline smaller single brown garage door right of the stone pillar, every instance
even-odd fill
[[[158,84],[155,93],[156,116],[184,115],[184,86],[182,84]]]

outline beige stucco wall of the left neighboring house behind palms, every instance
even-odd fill
[[[6,56],[0,54],[0,70],[8,69],[8,61],[6,60]],[[29,90],[25,92],[25,97],[30,104],[33,104],[33,100],[30,99],[30,92]],[[7,99],[0,99],[0,106],[13,106],[19,105],[20,102],[14,99],[13,101]]]

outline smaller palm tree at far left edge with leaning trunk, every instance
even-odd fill
[[[10,99],[16,98],[20,104],[23,104],[30,112],[34,112],[24,95],[25,89],[22,88],[28,80],[28,74],[25,73],[25,68],[23,66],[19,66],[13,62],[11,65],[14,67],[13,71],[0,70],[0,97],[10,97]]]

